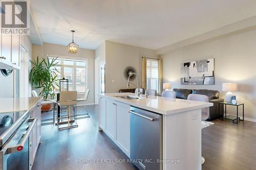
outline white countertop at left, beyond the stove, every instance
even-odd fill
[[[36,98],[1,98],[0,113],[27,111],[33,108],[41,97]]]

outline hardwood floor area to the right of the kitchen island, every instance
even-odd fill
[[[202,169],[256,169],[256,123],[212,122],[215,124],[202,129]]]

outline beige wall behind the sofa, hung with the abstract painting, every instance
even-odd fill
[[[212,89],[222,92],[223,82],[236,82],[233,92],[240,103],[245,103],[245,117],[256,121],[256,30],[197,45],[189,45],[161,55],[163,82],[173,88]],[[181,85],[180,64],[184,61],[215,58],[215,85]],[[228,108],[229,113],[234,109]]]

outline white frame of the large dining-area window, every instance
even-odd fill
[[[56,58],[58,57],[58,59],[60,59],[61,64],[57,64],[56,67],[60,67],[60,77],[62,77],[64,75],[64,68],[68,67],[68,68],[73,68],[73,90],[77,91],[77,82],[76,82],[76,68],[85,68],[86,70],[86,87],[84,88],[84,91],[81,91],[79,93],[84,93],[86,92],[86,90],[88,89],[88,59],[87,58],[75,58],[75,57],[67,57],[67,56],[57,56],[57,55],[47,55],[48,58]],[[73,61],[73,65],[65,65],[63,64],[63,61],[66,60],[72,60]],[[85,66],[81,66],[81,65],[76,65],[75,61],[80,61],[80,62],[85,62]]]

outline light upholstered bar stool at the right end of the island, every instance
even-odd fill
[[[202,95],[202,94],[189,94],[187,96],[187,100],[209,102],[208,96]],[[207,120],[209,118],[209,107],[202,108],[201,114],[202,114],[201,120],[202,121]],[[201,156],[201,163],[204,164],[204,162],[205,162],[205,159],[203,156]]]

